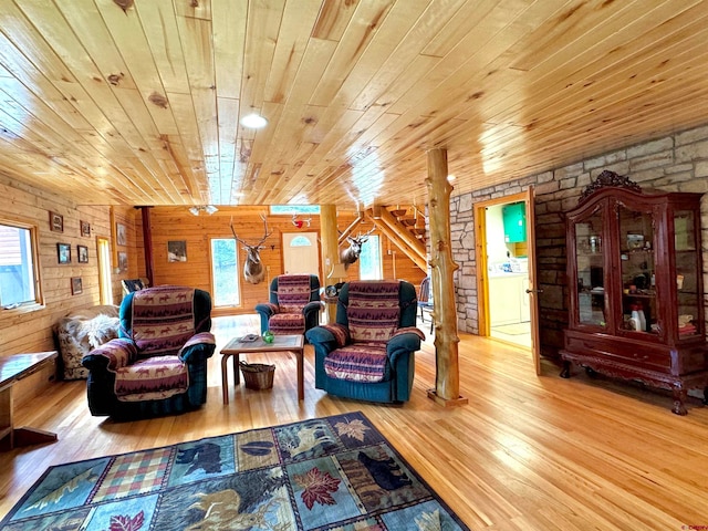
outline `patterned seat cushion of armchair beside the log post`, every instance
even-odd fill
[[[386,346],[355,343],[335,348],[324,358],[324,372],[331,378],[376,383],[391,379]]]

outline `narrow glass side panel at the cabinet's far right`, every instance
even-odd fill
[[[678,303],[678,335],[687,337],[700,333],[698,323],[698,249],[696,249],[695,218],[690,210],[674,214],[674,249],[676,251],[676,299]]]

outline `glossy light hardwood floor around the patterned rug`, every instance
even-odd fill
[[[461,335],[464,407],[446,409],[426,397],[435,381],[431,339],[416,357],[414,396],[403,406],[314,389],[309,345],[304,402],[295,399],[294,358],[273,354],[249,357],[277,364],[273,389],[241,385],[223,406],[218,348],[256,329],[215,320],[217,354],[208,402],[198,412],[125,424],[94,418],[83,382],[56,383],[43,399],[19,408],[20,425],[56,431],[59,441],[0,454],[0,514],[51,465],[362,410],[473,530],[708,525],[708,408],[698,399],[679,417],[666,393],[584,373],[562,379],[545,362],[537,377],[528,352]]]

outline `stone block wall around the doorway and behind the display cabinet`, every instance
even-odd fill
[[[628,176],[643,189],[708,191],[708,126],[606,153],[531,175],[512,183],[464,194],[450,201],[452,251],[459,270],[455,283],[458,327],[479,333],[477,258],[475,253],[476,202],[535,190],[535,256],[539,288],[541,354],[558,357],[568,325],[569,293],[565,280],[565,225],[563,212],[577,205],[581,191],[604,169]],[[704,285],[708,287],[708,195],[701,204]],[[704,289],[705,291],[705,289]],[[706,299],[706,298],[705,298]]]

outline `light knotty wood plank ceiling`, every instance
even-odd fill
[[[466,192],[704,123],[701,0],[0,2],[0,171],[79,204],[420,205],[429,148]]]

